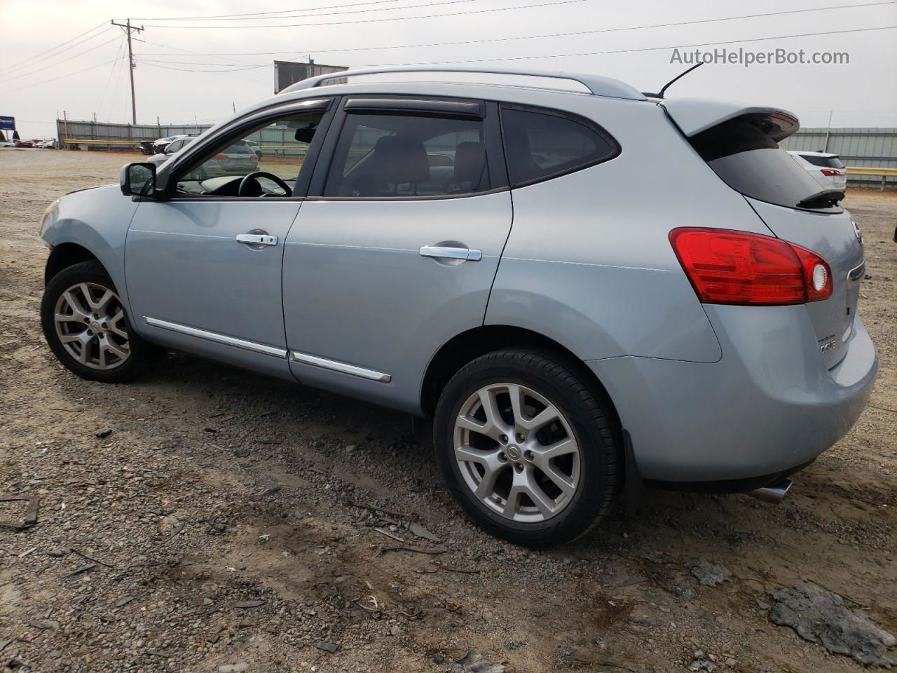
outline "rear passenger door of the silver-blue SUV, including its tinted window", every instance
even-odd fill
[[[295,376],[417,411],[431,355],[483,324],[510,224],[496,105],[346,99],[283,254]]]

